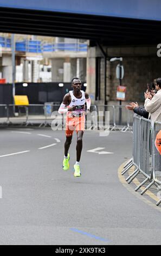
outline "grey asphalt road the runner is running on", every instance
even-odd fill
[[[1,245],[160,245],[160,212],[118,178],[132,155],[132,133],[85,131],[81,178],[73,176],[75,134],[67,172],[64,131],[10,127],[0,139]],[[95,148],[113,154],[88,151]]]

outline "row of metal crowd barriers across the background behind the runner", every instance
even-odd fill
[[[40,126],[51,125],[55,116],[51,113],[58,111],[60,105],[54,105],[53,102],[44,104],[29,104],[28,106],[16,106],[13,104],[0,105],[0,122],[4,124],[21,124]],[[2,110],[3,109],[3,110]],[[110,113],[110,115],[106,115]],[[121,111],[121,112],[120,112]],[[120,119],[121,113],[121,119]],[[89,115],[86,118],[87,130],[121,130],[123,132],[132,130],[133,111],[128,111],[124,105],[91,105],[91,120]]]

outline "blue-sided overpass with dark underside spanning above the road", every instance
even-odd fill
[[[0,31],[153,45],[161,39],[160,10],[159,0],[0,0]]]

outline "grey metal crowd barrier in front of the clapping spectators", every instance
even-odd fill
[[[122,171],[124,175],[132,166],[136,169],[131,175],[126,178],[128,184],[136,178],[139,173],[145,176],[145,180],[141,182],[135,189],[138,191],[147,181],[150,182],[143,191],[143,195],[152,185],[160,188],[161,185],[161,155],[159,154],[155,139],[157,133],[161,130],[161,123],[152,122],[143,117],[139,118],[134,115],[133,117],[133,157],[128,161]],[[156,205],[161,203],[161,198]]]

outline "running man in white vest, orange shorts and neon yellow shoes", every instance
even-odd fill
[[[63,97],[63,101],[59,108],[59,113],[67,113],[66,117],[66,142],[65,142],[65,156],[63,159],[63,169],[69,169],[69,147],[72,142],[73,131],[76,130],[76,163],[74,164],[74,176],[81,176],[80,172],[80,157],[82,151],[82,137],[85,130],[85,102],[87,103],[87,111],[89,112],[91,106],[91,99],[89,95],[81,90],[81,81],[78,77],[72,79],[72,88],[69,93]],[[67,107],[66,107],[67,106]]]

